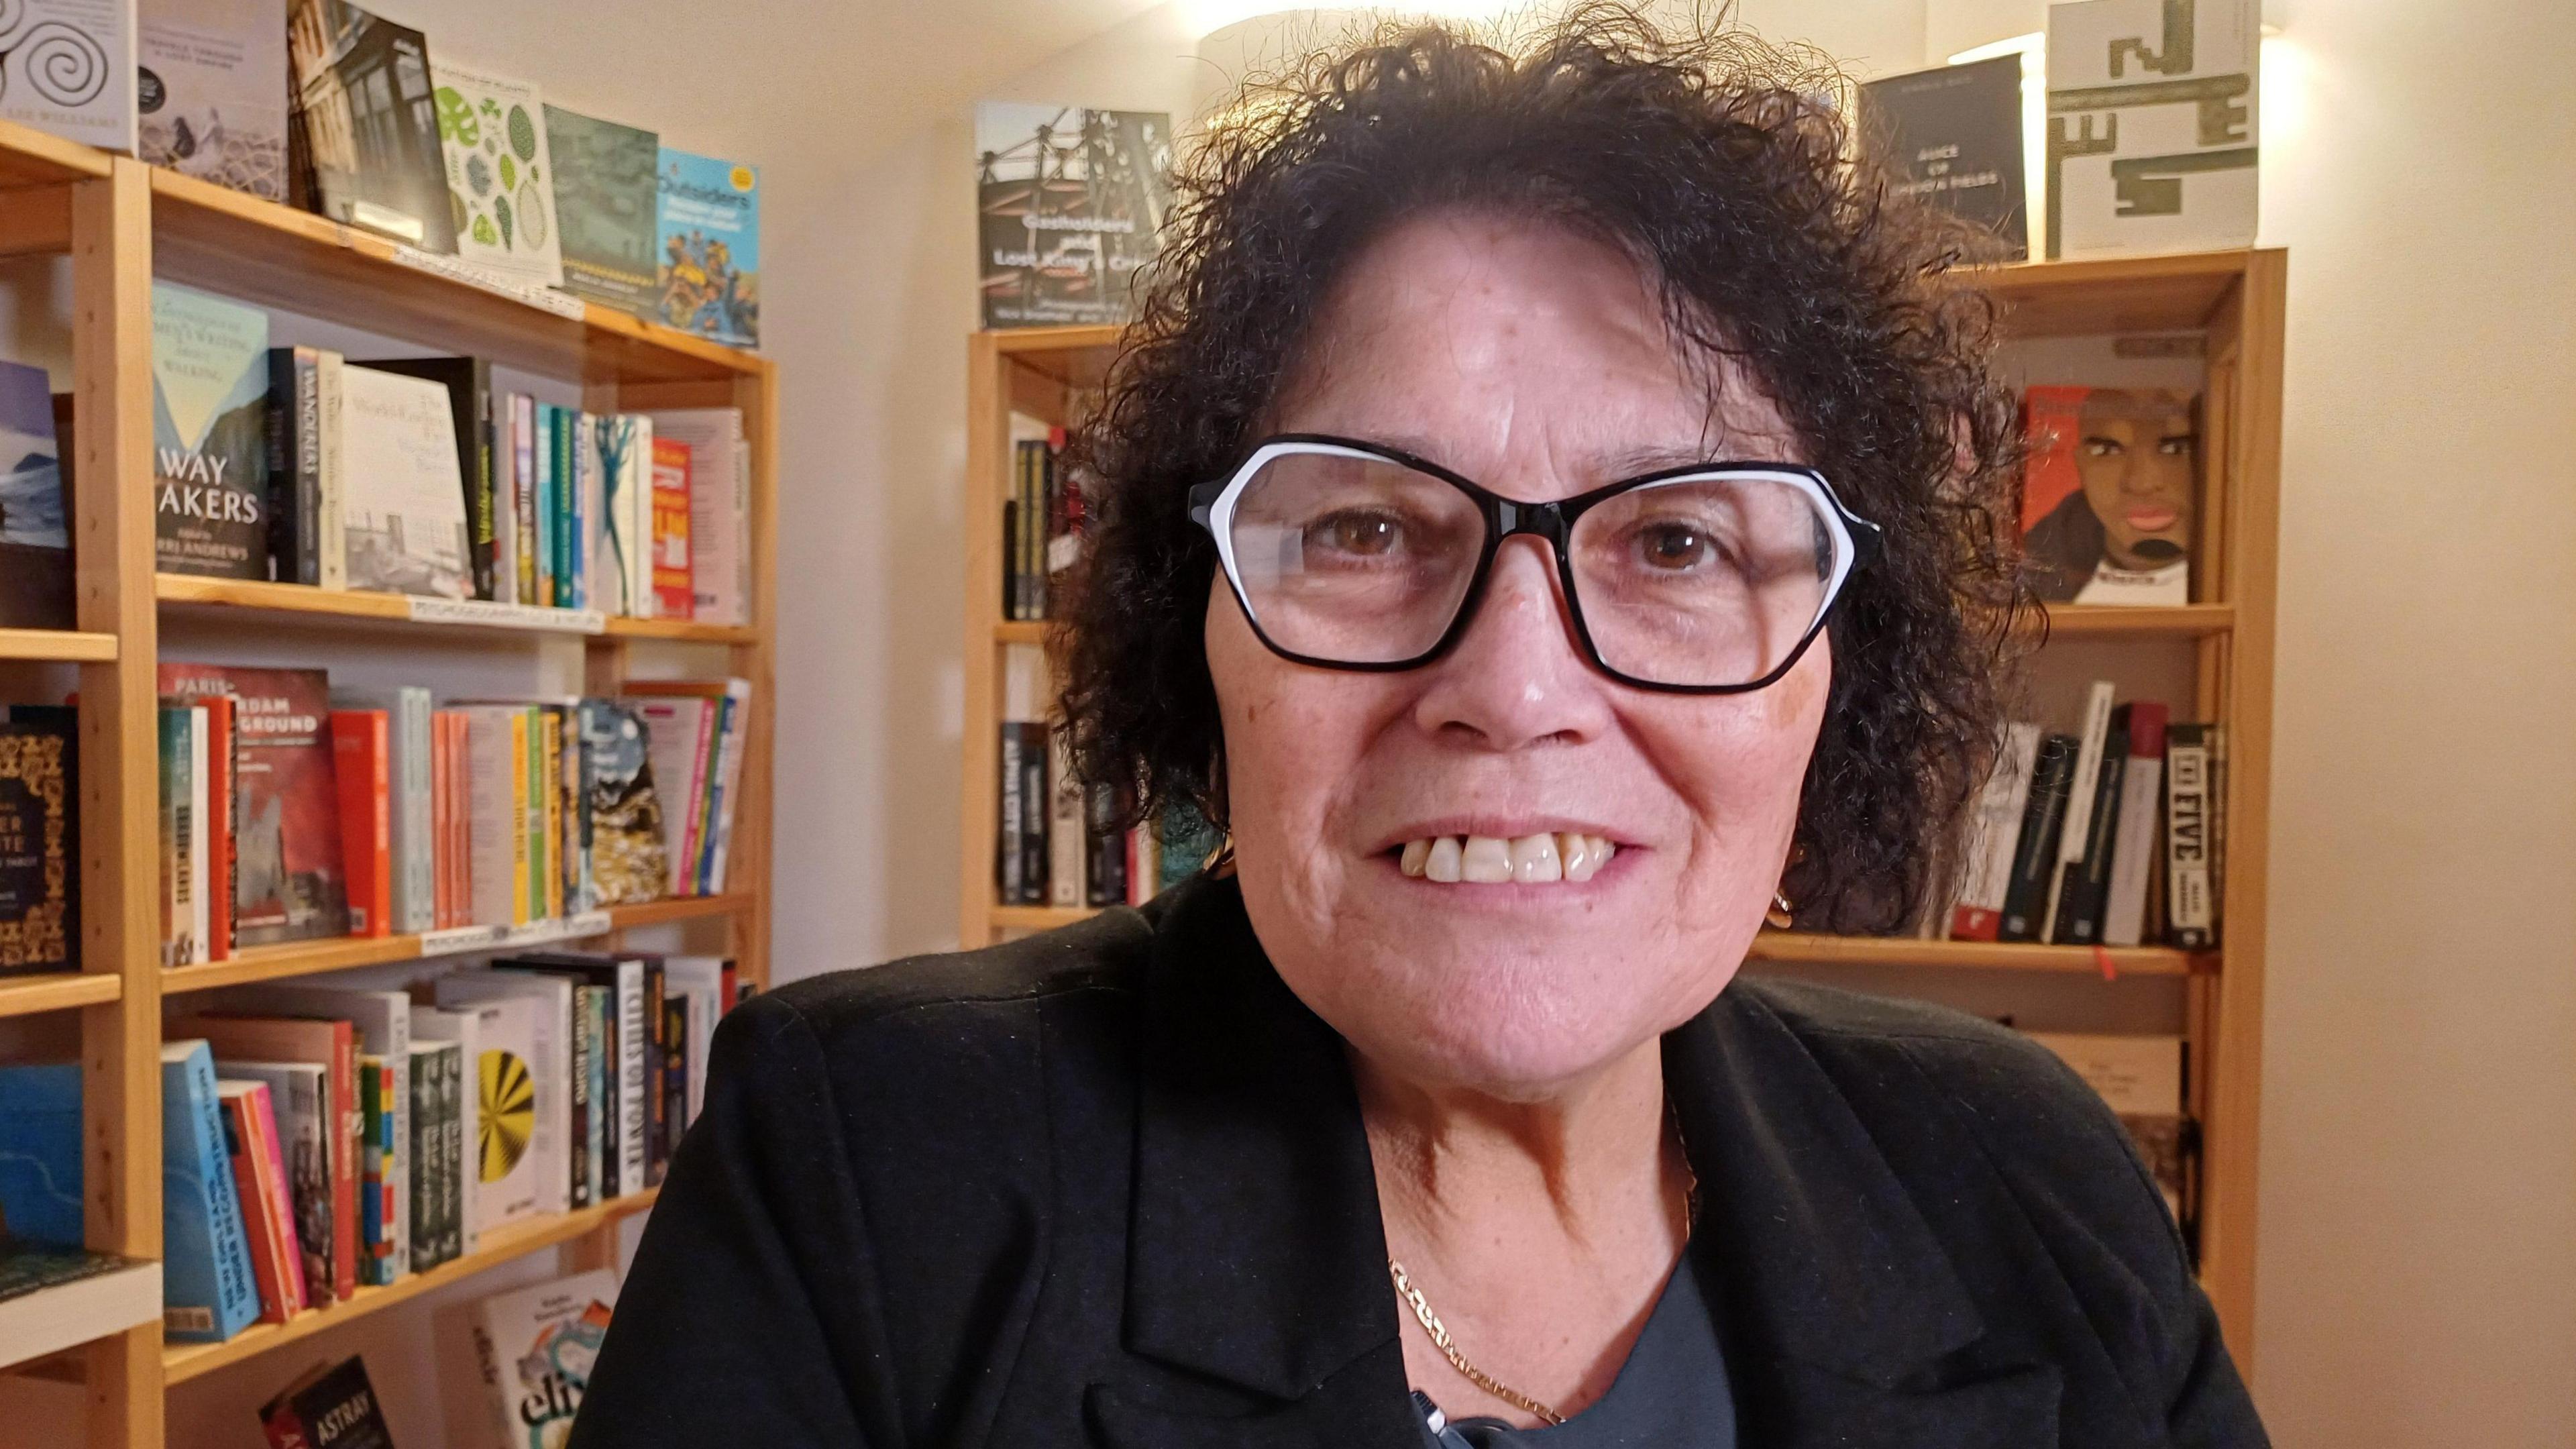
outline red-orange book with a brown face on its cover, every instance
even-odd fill
[[[2192,601],[2200,400],[2164,387],[2022,394],[2022,554],[2050,603]]]

